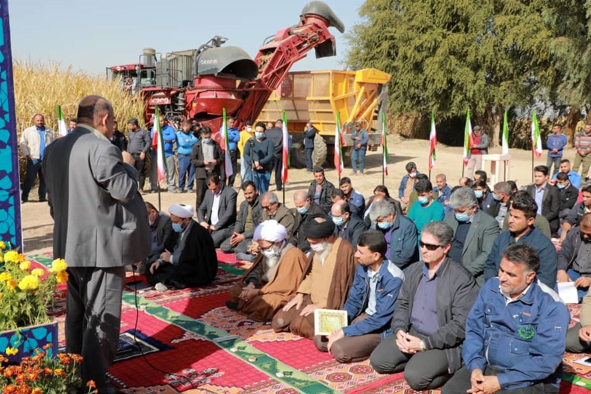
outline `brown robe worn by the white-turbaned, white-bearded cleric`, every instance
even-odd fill
[[[256,256],[252,267],[245,272],[244,278],[247,278],[253,272],[260,271],[264,273],[263,255],[259,253]],[[302,273],[306,266],[306,255],[300,249],[287,244],[281,252],[281,259],[277,263],[277,272],[271,281],[262,284],[259,294],[244,301],[238,296],[245,286],[243,281],[236,282],[230,289],[230,297],[238,301],[238,311],[245,314],[251,320],[269,321],[273,318],[275,312],[287,304],[287,301],[296,295],[298,286],[302,279]],[[259,278],[260,283],[260,278]]]

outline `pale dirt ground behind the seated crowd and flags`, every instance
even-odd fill
[[[408,161],[414,161],[417,164],[418,171],[428,172],[428,145],[429,142],[423,139],[404,139],[398,135],[389,136],[388,151],[389,151],[389,175],[385,177],[385,184],[392,196],[398,196],[398,185],[402,176],[406,173],[404,165]],[[447,175],[447,183],[452,185],[457,184],[457,181],[462,176],[462,147],[460,146],[446,146],[437,145],[437,161],[433,170],[431,170],[431,181],[435,183],[435,176],[443,173]],[[489,151],[490,154],[500,154],[501,148],[493,148]],[[520,149],[511,149],[511,166],[509,168],[510,177],[507,180],[514,180],[519,187],[532,183],[532,159],[531,151],[523,151]],[[565,158],[574,158],[574,149],[566,149]],[[544,164],[546,162],[546,154],[540,158],[535,158],[534,165]],[[363,196],[371,196],[374,187],[382,183],[382,152],[381,149],[377,152],[368,152],[365,158],[365,174],[351,175],[350,168],[345,168],[342,177],[350,177],[353,187],[358,190]],[[337,172],[335,169],[326,170],[327,179],[333,184],[338,184]],[[271,177],[274,178],[274,175]],[[293,207],[293,193],[296,190],[307,189],[310,182],[313,180],[312,175],[306,172],[305,169],[290,169],[288,185],[285,190],[285,205]],[[238,186],[238,178],[235,185]],[[271,191],[275,191],[274,181],[271,179]],[[161,208],[167,210],[171,204],[184,203],[195,204],[194,193],[174,194],[162,192]],[[279,198],[283,194],[279,194]],[[24,251],[25,253],[39,253],[51,252],[51,242],[53,233],[53,220],[49,215],[49,208],[47,203],[38,203],[32,199],[37,198],[37,190],[32,190],[28,203],[22,204],[22,232],[24,237]],[[146,194],[144,199],[158,206],[157,194]],[[238,204],[243,201],[242,193],[238,193]]]

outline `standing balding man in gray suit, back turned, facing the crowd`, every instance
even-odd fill
[[[111,144],[113,107],[100,96],[78,106],[78,126],[43,161],[54,219],[53,256],[68,263],[66,351],[84,357],[84,382],[116,393],[105,373],[121,324],[124,266],[150,252],[148,214],[134,159]]]

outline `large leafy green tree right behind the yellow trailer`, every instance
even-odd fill
[[[504,108],[544,99],[551,90],[540,81],[556,79],[545,8],[542,0],[366,0],[346,65],[392,74],[392,112],[451,118],[470,109],[498,144]]]

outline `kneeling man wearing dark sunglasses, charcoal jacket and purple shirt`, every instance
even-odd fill
[[[440,387],[462,366],[466,317],[478,285],[462,265],[448,258],[453,229],[444,222],[423,227],[423,260],[405,272],[392,316],[392,335],[372,352],[378,373],[404,370],[414,390]]]

